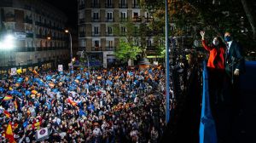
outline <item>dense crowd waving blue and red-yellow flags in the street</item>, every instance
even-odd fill
[[[160,68],[3,75],[0,142],[159,142],[164,80]]]

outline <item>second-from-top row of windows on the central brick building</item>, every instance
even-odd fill
[[[105,15],[106,20],[113,20],[113,11],[108,11]],[[148,12],[144,12],[143,17],[146,19],[152,19],[153,17],[148,14]],[[127,11],[120,11],[119,12],[119,18],[121,20],[127,19]],[[132,18],[140,18],[140,11],[139,10],[133,10],[132,11]],[[82,21],[85,19],[85,14],[83,11],[79,12],[79,20]],[[94,11],[91,13],[91,19],[92,20],[100,20],[100,12]]]

